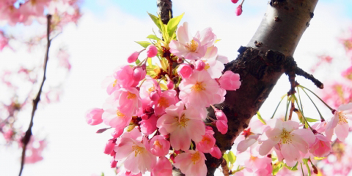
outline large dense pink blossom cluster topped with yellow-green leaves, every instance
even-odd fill
[[[182,16],[167,25],[150,17],[163,40],[151,35],[151,42],[137,42],[145,49],[127,58],[136,65],[122,65],[103,81],[109,97],[103,108],[86,113],[86,121],[114,129],[104,152],[126,175],[170,175],[171,164],[186,175],[206,175],[204,153],[222,155],[212,127],[227,132],[225,114],[213,105],[225,100],[226,91],[239,89],[239,74],[222,73],[228,60],[218,54],[211,28],[192,36],[188,23],[177,28]],[[217,119],[205,124],[210,106]]]

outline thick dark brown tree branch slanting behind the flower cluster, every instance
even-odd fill
[[[214,128],[217,145],[223,153],[231,149],[235,138],[248,127],[280,76],[290,69],[292,73],[293,53],[309,26],[317,2],[272,0],[247,47],[241,47],[237,59],[226,65],[225,70],[240,74],[242,84],[239,90],[227,92],[224,103],[216,105],[228,118],[225,135]],[[213,110],[208,110],[209,116],[215,118]],[[214,175],[221,161],[207,157],[207,175]]]

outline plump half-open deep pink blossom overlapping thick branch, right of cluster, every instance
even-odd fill
[[[223,89],[228,91],[236,91],[241,85],[241,81],[239,79],[239,74],[228,70],[224,72],[218,81]]]

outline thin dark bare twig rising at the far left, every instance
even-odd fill
[[[46,76],[45,76],[46,75],[46,65],[48,63],[48,54],[49,54],[49,48],[50,48],[50,43],[51,43],[51,40],[49,38],[51,15],[47,15],[46,17],[47,17],[47,20],[48,20],[47,32],[46,32],[46,37],[47,37],[48,44],[47,44],[47,47],[46,47],[44,66],[43,66],[44,67],[43,80],[42,80],[42,83],[40,85],[37,97],[35,99],[33,99],[33,109],[32,109],[31,122],[29,123],[29,126],[28,126],[28,129],[27,129],[26,133],[25,133],[25,136],[22,138],[23,148],[22,148],[21,169],[20,169],[19,176],[21,176],[22,170],[23,170],[23,166],[25,164],[26,148],[27,148],[29,140],[31,139],[31,136],[32,136],[33,118],[34,118],[35,111],[37,110],[38,103],[40,101],[40,95],[42,93],[42,89],[43,89],[43,85],[44,85],[44,81],[46,79]]]

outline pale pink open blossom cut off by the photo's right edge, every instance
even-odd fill
[[[340,105],[337,111],[334,111],[334,116],[327,123],[325,134],[331,140],[333,132],[335,132],[338,140],[344,141],[348,135],[348,122],[352,118],[352,103]]]

